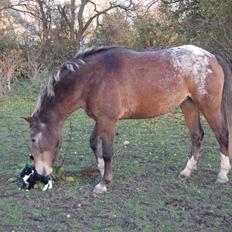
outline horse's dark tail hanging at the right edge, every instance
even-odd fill
[[[221,56],[217,56],[217,60],[224,71],[222,109],[228,129],[229,157],[232,158],[232,72],[229,64]]]

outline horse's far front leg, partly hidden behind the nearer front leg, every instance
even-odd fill
[[[101,144],[100,144],[100,137],[97,134],[97,125],[94,126],[93,132],[90,136],[90,147],[93,150],[93,153],[95,155],[96,158],[96,162],[97,162],[97,167],[98,170],[101,173],[101,176],[103,176],[104,174],[104,160],[102,157],[102,151],[101,151]]]

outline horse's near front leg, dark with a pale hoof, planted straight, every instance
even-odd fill
[[[104,174],[101,182],[94,188],[94,193],[104,193],[107,191],[107,185],[112,181],[112,157],[113,157],[113,142],[115,136],[115,122],[104,119],[97,122],[97,134],[102,141],[102,152],[104,160]]]

